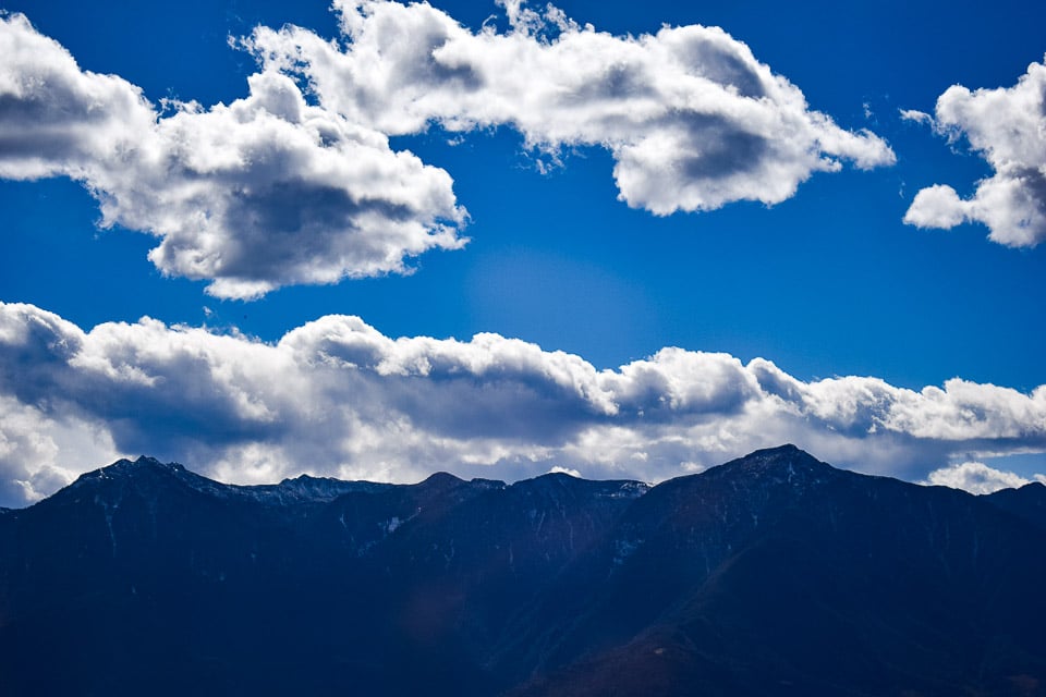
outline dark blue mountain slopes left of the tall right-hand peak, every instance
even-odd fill
[[[12,512],[0,693],[491,694],[485,641],[645,490],[320,481],[141,458]]]

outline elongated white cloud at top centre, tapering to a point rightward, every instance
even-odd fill
[[[657,215],[735,200],[776,204],[841,160],[895,161],[877,136],[839,129],[718,27],[618,37],[504,1],[510,28],[478,32],[427,3],[335,0],[344,44],[258,28],[270,70],[307,80],[319,102],[384,133],[509,125],[527,145],[601,146],[620,198]]]

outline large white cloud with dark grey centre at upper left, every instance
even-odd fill
[[[102,227],[160,237],[153,262],[210,280],[214,295],[402,272],[406,257],[464,244],[447,172],[307,105],[284,75],[253,75],[229,106],[166,105],[161,118],[23,15],[0,16],[0,176],[83,182]]]

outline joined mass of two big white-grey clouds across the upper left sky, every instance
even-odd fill
[[[893,162],[718,28],[615,37],[516,1],[507,33],[472,32],[424,3],[335,4],[341,42],[259,27],[243,41],[262,64],[247,95],[209,108],[157,107],[0,14],[0,178],[76,180],[101,227],[160,240],[165,274],[253,298],[462,247],[450,174],[389,145],[433,124],[511,127],[554,156],[607,148],[620,197],[657,215],[774,204],[842,161]]]

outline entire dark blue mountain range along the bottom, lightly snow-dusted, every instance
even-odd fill
[[[0,514],[2,695],[1042,695],[1046,487],[121,461]]]

